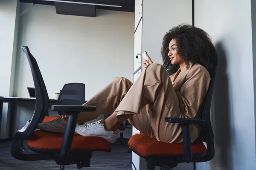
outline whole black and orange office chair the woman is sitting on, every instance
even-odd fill
[[[201,119],[165,118],[166,122],[181,125],[182,144],[159,142],[143,133],[136,134],[129,140],[131,150],[145,159],[148,170],[154,170],[155,166],[159,166],[161,170],[172,170],[178,163],[183,162],[193,162],[195,167],[196,162],[209,161],[214,157],[214,134],[210,120],[210,108],[216,69],[209,71],[209,74],[211,81],[202,105]],[[191,144],[189,126],[193,124],[201,126],[201,133],[198,139]],[[207,144],[207,148],[203,142]]]

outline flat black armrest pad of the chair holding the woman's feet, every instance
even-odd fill
[[[52,105],[52,111],[64,111],[64,112],[96,111],[96,106]]]

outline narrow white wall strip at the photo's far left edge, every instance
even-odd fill
[[[12,96],[19,25],[17,0],[0,0],[0,96]],[[8,103],[3,104],[1,138],[6,138]]]

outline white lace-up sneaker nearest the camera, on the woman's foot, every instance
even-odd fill
[[[81,136],[99,136],[110,143],[116,142],[118,136],[118,130],[115,132],[106,130],[102,120],[93,123],[85,123],[84,125],[76,125],[75,132]]]

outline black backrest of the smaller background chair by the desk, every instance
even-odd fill
[[[68,83],[61,90],[57,100],[57,105],[83,105],[85,99],[85,84]],[[58,111],[59,115],[65,115],[65,112]]]

